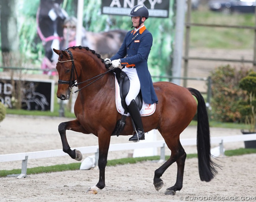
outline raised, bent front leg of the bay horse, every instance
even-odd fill
[[[69,143],[67,141],[67,136],[66,136],[66,130],[73,130],[76,132],[82,132],[82,133],[87,133],[83,127],[81,126],[80,122],[75,119],[72,121],[67,121],[67,122],[62,122],[59,124],[58,131],[61,137],[61,142],[62,142],[62,147],[63,147],[63,152],[69,154],[69,156],[77,161],[81,161],[83,156],[82,153],[79,150],[71,150],[69,147]]]

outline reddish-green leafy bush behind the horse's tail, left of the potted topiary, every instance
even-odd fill
[[[245,66],[219,66],[210,73],[212,79],[212,116],[215,121],[238,122],[241,114],[238,103],[245,100],[245,91],[239,88],[239,81],[245,77],[249,68]]]

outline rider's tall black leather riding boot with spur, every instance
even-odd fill
[[[139,141],[139,140],[145,140],[143,125],[141,121],[141,114],[139,112],[139,108],[135,103],[135,100],[133,99],[128,106],[128,110],[130,112],[130,115],[135,123],[135,128],[137,133],[134,134],[129,141]]]

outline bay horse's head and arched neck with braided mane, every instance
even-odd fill
[[[69,99],[72,87],[78,86],[79,90],[93,84],[104,82],[101,79],[106,72],[104,60],[95,51],[88,47],[72,47],[66,50],[53,49],[59,55],[56,69],[58,71],[57,97],[61,100]],[[101,79],[98,81],[98,79]],[[92,88],[91,85],[90,88]]]

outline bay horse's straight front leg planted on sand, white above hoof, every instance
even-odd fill
[[[106,132],[102,136],[98,136],[98,144],[99,144],[99,159],[98,159],[98,168],[100,171],[99,181],[98,183],[90,187],[87,193],[96,194],[98,189],[103,189],[105,187],[105,168],[107,165],[107,158],[108,158],[108,149],[110,143],[111,134]]]

